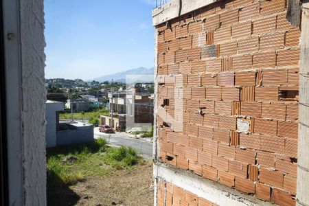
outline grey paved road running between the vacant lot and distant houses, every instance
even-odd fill
[[[110,135],[110,137],[109,137]],[[94,138],[98,139],[103,137],[110,144],[115,146],[129,146],[134,148],[138,152],[141,152],[142,157],[146,159],[152,159],[152,143],[148,141],[143,141],[141,139],[130,138],[128,135],[117,134],[105,134],[100,133],[99,128],[94,128]]]

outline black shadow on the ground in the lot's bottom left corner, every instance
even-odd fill
[[[47,206],[73,206],[79,200],[80,196],[63,183],[57,174],[54,172],[49,174],[49,178],[47,178]]]

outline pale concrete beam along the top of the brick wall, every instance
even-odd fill
[[[214,2],[216,0],[173,0],[152,10],[152,24],[159,25]]]

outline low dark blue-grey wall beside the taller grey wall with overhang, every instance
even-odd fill
[[[94,141],[93,126],[77,128],[76,130],[57,131],[57,146],[87,144],[92,141]]]

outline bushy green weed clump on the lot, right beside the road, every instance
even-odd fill
[[[141,161],[137,151],[133,148],[108,148],[104,155],[104,162],[113,168],[129,168]]]

